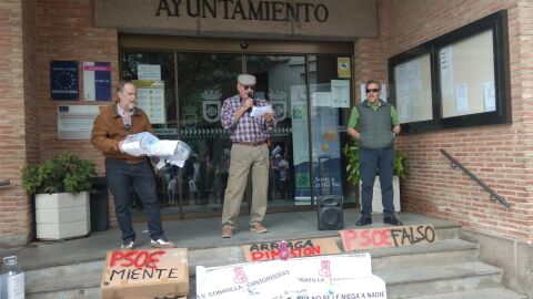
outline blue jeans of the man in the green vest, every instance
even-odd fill
[[[383,216],[394,215],[392,189],[392,172],[394,168],[394,150],[359,150],[359,171],[361,173],[361,214],[370,216],[372,213],[372,195],[375,175],[379,172]]]

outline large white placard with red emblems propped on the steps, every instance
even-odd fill
[[[197,298],[386,298],[370,254],[197,267]]]

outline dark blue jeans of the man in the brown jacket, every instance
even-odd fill
[[[144,206],[148,218],[148,230],[151,239],[163,236],[161,213],[159,210],[155,178],[148,161],[138,164],[128,164],[118,159],[105,159],[105,176],[109,189],[114,198],[117,221],[122,230],[122,240],[135,240],[135,231],[131,223],[131,196],[133,188]]]

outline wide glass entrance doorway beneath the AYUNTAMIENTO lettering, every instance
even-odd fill
[[[220,41],[169,40],[152,45],[145,40],[139,47],[139,37],[121,37],[120,53],[121,76],[141,86],[139,105],[148,110],[158,137],[179,138],[192,148],[183,168],[167,165],[157,172],[163,216],[221,215],[231,142],[220,113],[223,101],[237,94],[240,73],[255,75],[254,96],[269,100],[278,118],[269,151],[268,212],[312,209],[316,196],[345,195],[340,148],[352,86],[350,71],[342,73],[339,63],[350,65],[351,52],[314,53],[320,44],[302,43],[276,53],[272,41],[262,48],[268,53],[217,51],[224,48]],[[251,194],[249,184],[241,214],[249,213]]]

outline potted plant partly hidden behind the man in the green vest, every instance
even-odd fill
[[[361,192],[361,174],[359,172],[359,146],[356,144],[346,144],[342,148],[342,153],[346,156],[346,175],[348,182],[358,186]],[[372,212],[383,213],[383,204],[381,202],[381,187],[379,173],[375,174],[374,192],[372,196]],[[394,168],[392,185],[394,188],[394,209],[400,212],[400,178],[405,177],[405,157],[400,150],[394,150]],[[359,196],[361,198],[361,194]]]

